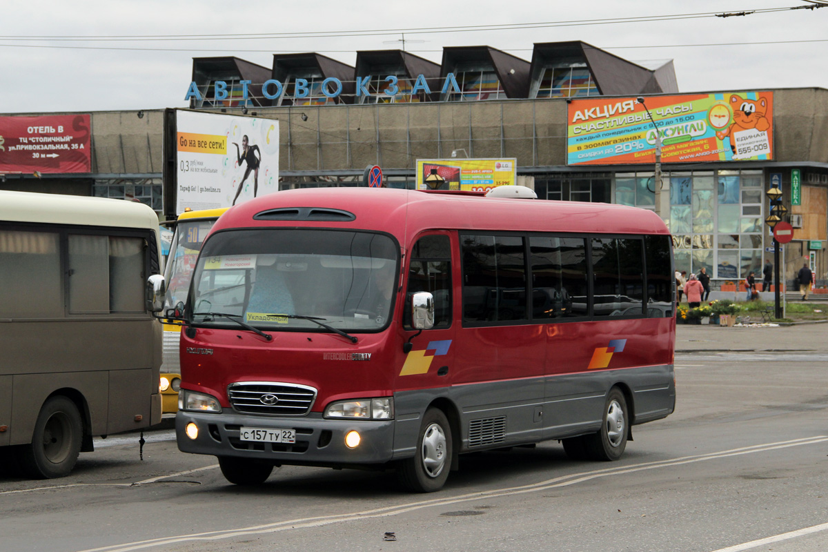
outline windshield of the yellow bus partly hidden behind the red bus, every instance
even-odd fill
[[[182,220],[176,225],[176,232],[170,244],[170,256],[166,260],[167,282],[166,306],[174,307],[179,301],[187,299],[190,289],[190,277],[195,268],[195,259],[199,256],[201,244],[205,241],[215,218],[202,220]]]

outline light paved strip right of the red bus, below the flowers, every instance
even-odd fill
[[[678,324],[676,353],[721,351],[828,352],[828,324],[792,326],[719,326]]]

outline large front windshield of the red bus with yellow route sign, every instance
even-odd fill
[[[216,233],[195,269],[193,324],[375,331],[392,314],[397,243],[387,235],[268,228]],[[211,314],[212,313],[212,314]]]

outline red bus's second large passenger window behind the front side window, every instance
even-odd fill
[[[529,238],[532,261],[532,318],[586,316],[584,238]]]

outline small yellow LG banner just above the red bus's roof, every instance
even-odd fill
[[[416,189],[428,190],[431,170],[443,180],[440,190],[488,192],[496,186],[515,185],[517,159],[418,159]]]

